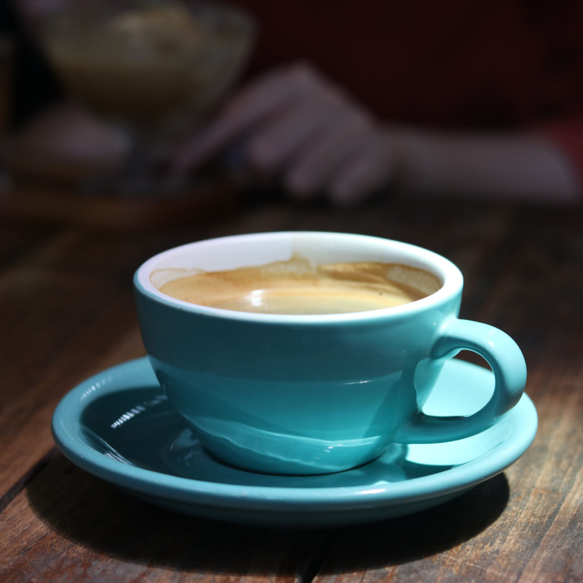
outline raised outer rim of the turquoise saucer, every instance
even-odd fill
[[[461,360],[451,359],[448,363],[451,363],[449,367],[473,367],[485,373],[490,372]],[[131,370],[139,372],[145,366],[150,369],[147,357],[129,360],[107,368],[71,389],[61,399],[52,416],[52,434],[57,447],[66,458],[87,472],[125,489],[183,503],[245,510],[269,508],[282,510],[282,507],[289,507],[290,510],[302,508],[329,511],[338,508],[345,510],[372,508],[420,501],[468,489],[503,472],[532,444],[538,427],[535,406],[524,394],[518,404],[500,419],[500,422],[503,419],[512,422],[513,431],[505,440],[506,442],[510,440],[510,445],[501,452],[494,449],[477,459],[438,474],[393,482],[382,487],[374,487],[374,484],[370,484],[369,486],[294,488],[205,482],[127,465],[108,458],[90,447],[80,437],[76,437],[81,428],[80,416],[86,406],[96,398],[120,390],[118,380],[120,375],[131,373]],[[144,372],[142,370],[140,374],[143,375]],[[105,384],[103,384],[104,381],[106,381]],[[155,382],[155,377],[153,381]],[[517,430],[518,436],[515,435]]]

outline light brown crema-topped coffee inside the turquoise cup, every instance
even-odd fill
[[[408,265],[365,261],[312,266],[293,258],[229,271],[198,271],[167,281],[159,290],[223,310],[345,314],[408,304],[440,287],[432,273]]]

